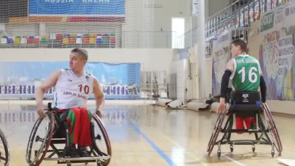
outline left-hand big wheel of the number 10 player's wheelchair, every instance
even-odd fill
[[[45,123],[41,123],[45,122]],[[41,130],[43,135],[39,136],[39,128],[45,127],[45,130]],[[45,131],[45,132],[44,132]],[[33,130],[30,134],[28,141],[26,160],[30,166],[39,166],[43,161],[46,152],[50,146],[50,141],[54,131],[54,115],[51,112],[47,112],[43,118],[38,118],[34,124]],[[33,149],[33,145],[38,144],[37,149]]]

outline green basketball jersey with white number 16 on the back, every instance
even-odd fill
[[[249,55],[240,55],[233,58],[233,61],[233,88],[238,91],[258,91],[260,85],[260,65],[258,60]]]

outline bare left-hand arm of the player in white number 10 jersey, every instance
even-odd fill
[[[38,86],[35,98],[37,102],[38,114],[40,117],[44,117],[44,108],[43,108],[43,95],[46,91],[48,91],[52,86],[55,86],[58,78],[61,76],[62,71],[56,70],[54,71],[40,86]]]

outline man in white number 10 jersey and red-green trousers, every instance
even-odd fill
[[[68,123],[70,147],[66,155],[70,157],[89,156],[85,147],[92,144],[91,115],[86,108],[86,102],[89,95],[93,93],[96,100],[96,113],[101,116],[101,107],[104,100],[104,94],[98,80],[84,71],[87,60],[88,53],[86,50],[71,50],[69,69],[53,72],[37,88],[35,93],[38,114],[40,117],[44,117],[43,94],[51,87],[55,87],[52,104],[60,118]],[[76,144],[78,144],[78,149],[76,149]]]

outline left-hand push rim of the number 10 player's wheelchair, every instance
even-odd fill
[[[44,120],[45,117],[43,117],[43,118],[39,117],[36,120],[36,122],[33,126],[33,130],[30,134],[30,138],[29,138],[28,145],[27,145],[27,151],[26,151],[26,160],[30,166],[39,166],[41,164],[41,162],[43,161],[43,159],[45,158],[47,150],[49,149],[49,146],[50,146],[50,142],[51,142],[53,131],[54,131],[54,116],[51,112],[47,112],[46,116],[48,117],[46,135],[45,135],[45,138],[42,142],[41,147],[38,149],[37,153],[33,155],[34,156],[33,160],[31,159],[33,142],[37,142],[37,140],[36,140],[37,138],[35,138],[35,135],[37,133],[40,123]],[[33,152],[34,151],[35,150],[33,150]],[[41,153],[42,153],[42,155],[41,155]],[[41,157],[40,157],[40,155],[41,155]],[[40,159],[39,159],[39,157],[40,157]]]

